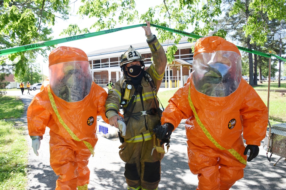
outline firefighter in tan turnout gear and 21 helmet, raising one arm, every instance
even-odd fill
[[[121,134],[120,158],[126,162],[124,176],[127,189],[158,189],[161,175],[163,145],[152,151],[153,128],[160,123],[161,111],[157,99],[166,68],[167,58],[163,47],[152,35],[150,22],[142,26],[150,47],[153,63],[144,71],[144,58],[132,46],[121,56],[120,67],[124,76],[114,84],[106,100],[106,116],[112,126],[118,128],[118,110],[122,105],[126,134]],[[123,139],[123,140],[122,140]],[[152,153],[152,155],[151,155]]]

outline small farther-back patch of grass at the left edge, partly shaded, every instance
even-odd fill
[[[0,98],[0,119],[19,118],[24,113],[24,104],[17,96]]]

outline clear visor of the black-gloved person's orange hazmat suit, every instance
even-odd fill
[[[202,52],[193,59],[193,82],[197,91],[213,97],[233,93],[241,80],[241,56],[232,51]]]

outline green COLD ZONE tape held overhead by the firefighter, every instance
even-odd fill
[[[103,30],[103,31],[98,31],[98,32],[92,32],[92,33],[87,33],[87,34],[80,34],[80,35],[76,35],[76,36],[69,36],[66,38],[60,38],[60,39],[56,39],[56,40],[49,40],[46,42],[39,42],[39,43],[35,43],[35,44],[28,44],[28,45],[24,45],[24,46],[18,46],[18,47],[13,47],[13,48],[7,48],[7,49],[3,49],[0,50],[0,56],[3,55],[7,55],[7,54],[13,54],[13,53],[18,53],[18,52],[24,52],[27,50],[33,50],[33,49],[37,49],[37,48],[42,48],[42,47],[46,47],[46,46],[52,46],[52,45],[56,45],[56,44],[61,44],[61,43],[65,43],[65,42],[69,42],[69,41],[74,41],[74,40],[80,40],[83,38],[90,38],[90,37],[94,37],[94,36],[100,36],[103,34],[108,34],[108,33],[112,33],[112,32],[117,32],[117,31],[121,31],[121,30],[126,30],[126,29],[130,29],[130,28],[136,28],[136,27],[140,27],[140,26],[146,26],[147,24],[136,24],[136,25],[132,25],[132,26],[125,26],[125,27],[120,27],[120,28],[112,28],[112,29],[108,29],[108,30]],[[192,34],[192,33],[188,33],[188,32],[184,32],[182,30],[176,30],[176,29],[172,29],[172,28],[168,28],[168,27],[164,27],[164,26],[159,26],[156,24],[150,24],[150,26],[154,26],[156,28],[161,28],[163,30],[167,30],[176,34],[180,34],[183,36],[188,36],[190,38],[202,38],[203,36],[199,36],[196,34]],[[245,51],[245,52],[250,52],[253,54],[257,54],[260,56],[264,56],[264,57],[271,57],[271,56],[275,56],[276,58],[286,61],[286,59],[281,58],[277,55],[274,54],[266,54],[263,52],[259,52],[256,50],[252,50],[252,49],[248,49],[248,48],[244,48],[244,47],[240,47],[237,46],[237,48],[239,50]]]

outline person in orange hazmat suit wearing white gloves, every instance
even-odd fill
[[[92,81],[86,53],[60,46],[49,55],[49,82],[27,111],[32,148],[38,156],[46,126],[50,128],[50,164],[59,178],[56,190],[87,190],[88,159],[94,155],[97,116],[105,117],[106,91]]]

